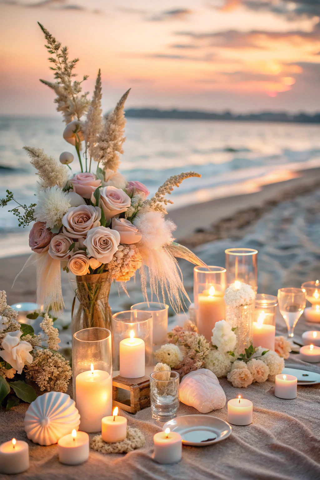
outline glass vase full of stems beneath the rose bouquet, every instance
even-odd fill
[[[72,335],[84,328],[107,328],[111,331],[110,274],[73,275],[69,279],[75,294],[71,310]]]

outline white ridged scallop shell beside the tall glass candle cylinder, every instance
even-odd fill
[[[52,445],[78,430],[80,415],[70,396],[61,392],[40,395],[29,405],[24,417],[24,430],[35,444]]]

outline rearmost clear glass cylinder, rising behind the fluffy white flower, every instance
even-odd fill
[[[227,286],[239,281],[258,290],[258,250],[252,248],[228,248],[225,250]]]

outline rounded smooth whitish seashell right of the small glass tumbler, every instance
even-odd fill
[[[201,413],[225,406],[225,392],[211,370],[200,368],[187,373],[179,386],[179,400]]]

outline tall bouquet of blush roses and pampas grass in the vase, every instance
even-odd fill
[[[187,172],[172,176],[151,199],[147,199],[149,191],[140,181],[125,180],[118,169],[125,141],[124,103],[130,90],[104,118],[100,70],[90,100],[88,92],[82,91],[87,76],[82,81],[72,81],[78,59],[69,60],[68,48],[62,48],[39,25],[55,78],[54,83],[41,82],[56,94],[54,102],[66,123],[63,137],[75,147],[81,172],[72,173],[70,164],[74,157],[70,152],[60,155],[59,165],[41,148],[24,147],[37,169],[37,199],[36,204],[19,204],[12,212],[18,216],[19,225],[36,222],[30,231],[33,254],[27,263],[35,264],[37,269],[37,304],[45,309],[51,306],[55,313],[63,308],[61,268],[78,278],[107,273],[110,282],[117,280],[124,289],[124,282],[140,269],[142,291],[147,298],[146,267],[151,294],[167,294],[173,308],[179,311],[180,295],[188,300],[189,297],[176,257],[204,264],[186,247],[174,242],[176,226],[165,219],[165,206],[173,202],[165,195],[183,180],[201,175]],[[1,200],[2,206],[14,200],[13,193],[7,193]],[[90,291],[90,302],[94,303],[96,288],[84,288],[85,295]],[[78,290],[81,297],[79,287]]]

